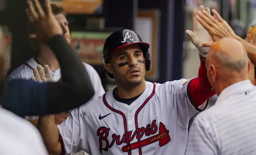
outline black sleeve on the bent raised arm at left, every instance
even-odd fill
[[[61,112],[86,103],[93,97],[94,89],[81,59],[63,36],[57,35],[51,38],[49,46],[60,63],[62,80],[47,84],[48,111]],[[59,100],[60,98],[62,101]],[[60,102],[62,106],[58,106]]]

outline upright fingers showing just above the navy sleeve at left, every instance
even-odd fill
[[[50,74],[50,69],[48,65],[43,67],[39,64],[37,68],[33,69],[34,76],[31,77],[34,81],[37,82],[52,82],[52,75]]]

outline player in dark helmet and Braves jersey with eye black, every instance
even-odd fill
[[[196,45],[211,39],[201,30],[194,26],[194,32],[187,31]],[[73,110],[60,125],[54,116],[39,117],[38,129],[50,154],[184,155],[190,117],[204,110],[215,94],[206,75],[207,48],[198,48],[198,77],[163,84],[145,81],[148,49],[133,30],[118,30],[106,39],[105,69],[117,87]]]

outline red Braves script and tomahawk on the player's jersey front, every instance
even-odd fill
[[[159,141],[159,146],[162,147],[165,144],[169,143],[171,141],[171,138],[169,136],[169,130],[165,128],[165,125],[163,123],[159,123],[159,129],[156,125],[156,120],[153,120],[151,124],[148,124],[146,127],[141,127],[136,129],[133,134],[132,131],[125,132],[122,135],[122,138],[120,135],[117,134],[112,134],[112,141],[111,143],[108,140],[109,136],[109,128],[107,127],[100,127],[97,130],[97,136],[99,136],[99,149],[101,151],[108,151],[109,148],[111,148],[114,144],[116,145],[121,145],[121,144],[127,144],[128,142],[131,142],[134,140],[134,138],[140,140],[144,135],[145,136],[151,136],[159,130],[159,134],[156,134],[155,136],[151,136],[145,140],[138,141],[126,146],[122,147],[123,152],[128,152],[133,149],[138,149],[140,147],[147,146],[149,144],[152,144],[154,142]],[[106,143],[106,147],[103,148],[103,141]]]

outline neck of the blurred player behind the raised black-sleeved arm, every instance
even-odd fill
[[[47,64],[49,69],[53,72],[60,68],[60,64],[56,56],[51,51],[50,47],[46,45],[39,45],[39,54],[37,55],[37,60],[43,65]]]

